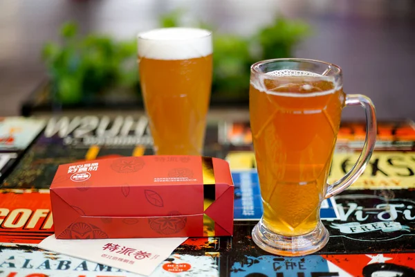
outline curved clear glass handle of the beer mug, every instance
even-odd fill
[[[353,184],[360,175],[362,175],[363,171],[369,163],[371,158],[371,154],[374,151],[375,143],[376,143],[376,112],[374,104],[371,100],[363,95],[360,94],[348,94],[346,96],[346,106],[356,106],[360,105],[365,109],[366,115],[366,138],[365,138],[365,145],[363,145],[363,150],[360,153],[358,161],[354,164],[353,168],[347,175],[344,175],[342,179],[336,181],[334,184],[329,184],[329,187],[326,191],[326,199],[332,197],[333,195],[337,195],[341,193],[343,190],[348,188],[351,184]]]

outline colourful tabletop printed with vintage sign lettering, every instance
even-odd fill
[[[15,161],[0,159],[12,170],[5,173],[0,188],[0,276],[134,276],[43,251],[36,244],[53,233],[48,184],[57,165],[152,154],[147,123],[146,118],[132,116],[54,118],[23,156]],[[349,170],[361,147],[362,125],[347,124],[340,134],[330,182]],[[205,154],[227,159],[232,168],[234,235],[190,238],[151,276],[415,276],[414,125],[406,120],[379,126],[380,140],[365,173],[322,204],[320,215],[331,235],[329,243],[313,255],[286,258],[270,255],[252,242],[251,231],[262,206],[249,125],[211,123]],[[107,136],[103,131],[108,131]],[[11,159],[10,151],[3,153]]]

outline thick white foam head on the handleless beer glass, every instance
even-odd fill
[[[138,35],[138,56],[155,60],[187,60],[212,54],[210,31],[160,28]]]

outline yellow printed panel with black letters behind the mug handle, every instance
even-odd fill
[[[343,177],[356,163],[360,152],[335,153],[329,183]],[[230,152],[226,157],[231,170],[256,168],[253,152]],[[350,189],[415,188],[415,152],[374,152],[365,172]]]

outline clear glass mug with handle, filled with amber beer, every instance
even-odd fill
[[[342,109],[349,105],[365,109],[365,146],[351,171],[327,184]],[[283,256],[321,249],[329,233],[320,205],[365,170],[376,141],[374,105],[366,96],[343,92],[342,71],[334,64],[266,60],[251,67],[250,125],[264,205],[252,239]]]

